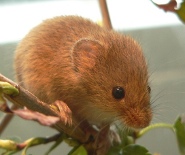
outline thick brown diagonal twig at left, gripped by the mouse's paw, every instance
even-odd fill
[[[16,106],[21,107],[27,107],[30,110],[37,111],[40,113],[43,113],[45,115],[49,116],[56,116],[60,117],[60,113],[51,109],[50,106],[42,101],[40,101],[36,96],[31,94],[29,91],[25,90],[24,88],[20,87],[10,79],[4,77],[0,74],[0,81],[8,82],[12,86],[16,87],[19,90],[19,95],[17,96],[9,96],[5,95],[5,97],[10,100],[12,103],[14,103]],[[73,124],[79,124],[75,119],[73,119]],[[70,137],[77,139],[81,143],[85,142],[87,139],[84,137],[87,137],[83,129],[75,128],[74,126],[67,126],[64,124],[64,122],[59,121],[53,126],[55,129],[57,129],[60,132],[64,132],[68,134]]]

